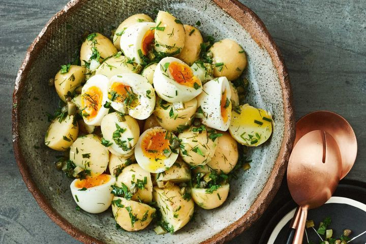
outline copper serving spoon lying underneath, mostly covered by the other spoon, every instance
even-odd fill
[[[337,141],[342,157],[342,173],[340,179],[344,178],[351,170],[357,155],[357,140],[351,125],[337,113],[330,111],[315,111],[301,117],[296,123],[297,141],[308,132],[323,130],[328,132]],[[300,215],[300,207],[297,207],[290,224],[290,233],[287,244],[292,243],[295,229]]]

